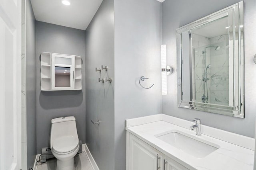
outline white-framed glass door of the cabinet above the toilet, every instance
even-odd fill
[[[74,56],[52,54],[52,90],[74,89]]]

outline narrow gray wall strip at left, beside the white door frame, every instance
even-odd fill
[[[33,168],[36,157],[36,19],[26,0],[26,123],[27,169]]]

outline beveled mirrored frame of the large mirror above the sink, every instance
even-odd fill
[[[182,99],[182,33],[196,29],[210,21],[217,20],[223,15],[233,14],[233,25],[229,28],[228,32],[229,41],[233,42],[232,53],[233,57],[232,72],[233,78],[233,102],[229,106],[210,104],[203,102],[185,101]],[[232,15],[230,15],[232,17]],[[234,43],[233,40],[238,40]],[[232,47],[231,47],[232,46]],[[238,2],[232,6],[219,10],[204,18],[196,20],[192,23],[184,25],[176,29],[176,48],[177,48],[177,105],[178,107],[206,111],[211,113],[218,113],[223,115],[230,115],[234,117],[244,118],[244,2]],[[237,63],[235,63],[237,62]],[[238,78],[238,79],[237,79]],[[236,82],[235,82],[236,81]]]

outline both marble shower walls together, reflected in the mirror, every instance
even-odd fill
[[[193,96],[196,102],[202,102],[202,95],[205,94],[202,80],[205,68],[211,64],[208,69],[208,103],[229,105],[229,63],[228,63],[228,35],[207,38],[192,34],[192,49],[194,49],[194,67],[195,67],[195,88]],[[220,46],[218,51],[214,47],[206,49],[206,66],[204,54],[205,47]],[[206,95],[207,96],[207,95]]]

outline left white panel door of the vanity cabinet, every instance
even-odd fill
[[[163,154],[130,134],[129,170],[162,170]],[[157,160],[158,155],[158,160]],[[158,167],[157,169],[157,161]]]

